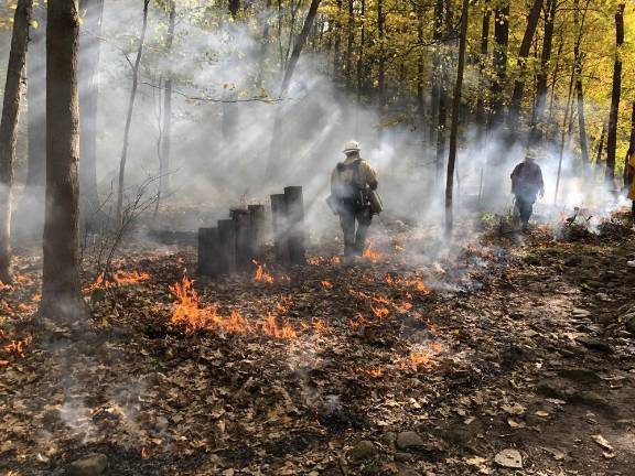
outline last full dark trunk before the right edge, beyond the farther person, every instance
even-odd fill
[[[620,96],[622,95],[622,44],[624,43],[624,8],[620,3],[615,13],[615,63],[613,65],[613,89],[611,93],[611,111],[609,113],[609,130],[606,138],[606,171],[605,177],[611,188],[615,187],[615,149],[617,147],[617,120],[620,113]]]

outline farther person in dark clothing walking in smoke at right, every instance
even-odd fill
[[[520,214],[524,230],[529,226],[537,196],[545,195],[542,171],[535,160],[534,152],[527,153],[525,162],[516,165],[512,172],[512,193],[516,196],[516,208]]]

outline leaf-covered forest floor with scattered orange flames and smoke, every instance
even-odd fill
[[[632,226],[445,250],[397,223],[354,266],[332,244],[217,280],[192,248],[128,249],[115,282],[85,277],[90,323],[46,335],[41,259],[19,256],[0,472],[632,475]]]

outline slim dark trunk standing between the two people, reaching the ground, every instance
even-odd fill
[[[456,148],[459,134],[459,113],[461,112],[461,93],[463,90],[463,69],[465,67],[465,44],[467,43],[467,13],[470,0],[463,0],[461,9],[461,37],[459,41],[459,65],[456,68],[456,83],[452,99],[452,123],[450,126],[450,154],[448,156],[448,175],[445,182],[445,235],[450,237],[454,227],[453,192],[454,169],[456,164]]]

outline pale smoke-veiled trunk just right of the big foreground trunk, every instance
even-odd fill
[[[97,98],[99,94],[99,52],[104,0],[80,0],[85,11],[79,29],[79,209],[86,226],[90,227],[99,209],[97,193]]]

